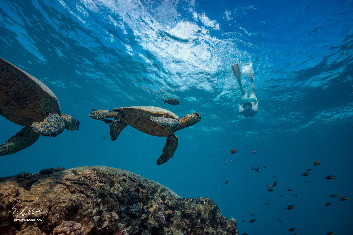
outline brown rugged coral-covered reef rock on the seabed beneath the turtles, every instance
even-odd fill
[[[0,234],[238,235],[236,228],[213,200],[181,198],[122,169],[0,178]]]

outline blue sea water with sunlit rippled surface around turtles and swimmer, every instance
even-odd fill
[[[351,1],[0,0],[0,57],[43,81],[81,123],[1,157],[0,176],[106,165],[215,200],[239,234],[351,234],[352,12]],[[254,70],[255,117],[239,115],[235,63]],[[243,85],[249,92],[245,76]],[[88,117],[91,107],[135,105],[203,119],[176,133],[174,157],[157,166],[165,138],[128,126],[113,142]],[[0,123],[0,142],[22,128]],[[247,174],[251,165],[259,172]]]

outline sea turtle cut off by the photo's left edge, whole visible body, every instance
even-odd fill
[[[0,58],[0,115],[24,126],[0,145],[0,156],[14,154],[36,142],[40,135],[57,136],[78,130],[79,121],[60,112],[50,89],[34,76]]]

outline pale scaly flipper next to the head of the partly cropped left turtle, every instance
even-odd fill
[[[58,113],[49,113],[49,116],[43,122],[34,122],[33,130],[43,136],[57,136],[64,131],[64,120]]]

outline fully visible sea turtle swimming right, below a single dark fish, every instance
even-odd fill
[[[107,124],[110,123],[110,138],[112,140],[116,140],[127,125],[148,135],[167,137],[166,145],[157,160],[157,165],[167,162],[177,149],[178,137],[174,132],[192,126],[201,120],[201,115],[198,113],[190,113],[179,118],[166,109],[153,106],[121,107],[112,111],[94,110],[89,117],[94,120],[102,120]],[[106,118],[114,118],[114,121]]]

